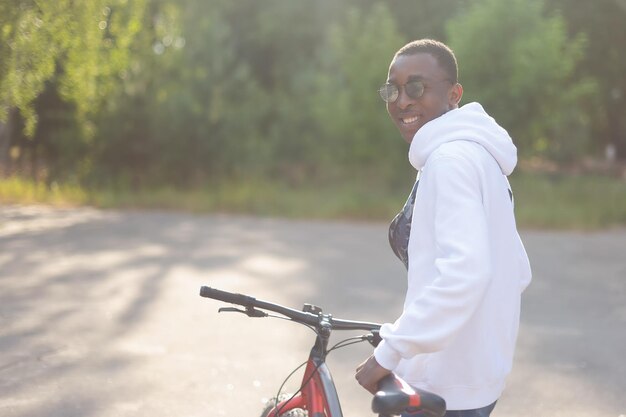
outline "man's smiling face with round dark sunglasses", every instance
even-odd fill
[[[412,81],[423,83],[424,91],[418,98],[410,97],[404,87]],[[452,84],[435,57],[428,53],[396,57],[389,67],[387,82],[399,90],[398,98],[387,103],[387,111],[407,143],[424,124],[456,108],[463,94],[461,85]]]

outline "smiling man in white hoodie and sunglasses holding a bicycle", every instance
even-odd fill
[[[422,39],[396,53],[379,90],[418,174],[389,229],[408,270],[403,312],[356,379],[375,392],[393,371],[441,395],[448,417],[486,417],[512,367],[531,273],[507,180],[517,149],[480,104],[459,107],[457,72],[450,48]]]

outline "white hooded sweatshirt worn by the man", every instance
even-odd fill
[[[511,370],[528,257],[509,175],[517,149],[478,103],[426,123],[409,150],[420,171],[404,311],[380,330],[378,363],[450,410],[496,401]]]

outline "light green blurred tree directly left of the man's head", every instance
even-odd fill
[[[407,150],[376,91],[404,43],[384,4],[374,5],[367,14],[352,9],[345,21],[331,27],[316,94],[308,106],[321,127],[318,148],[332,150],[331,164],[352,171],[372,167],[373,175],[397,177]]]

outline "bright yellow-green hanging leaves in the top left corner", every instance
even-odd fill
[[[19,1],[0,6],[0,121],[17,107],[35,133],[35,99],[46,82],[76,105],[84,137],[89,113],[110,92],[141,29],[143,0]]]

